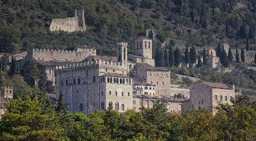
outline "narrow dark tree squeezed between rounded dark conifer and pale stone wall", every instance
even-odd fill
[[[45,66],[38,63],[37,69],[39,70],[39,81],[38,81],[38,87],[40,87],[41,90],[46,90],[46,83],[47,83],[47,74],[45,71]]]

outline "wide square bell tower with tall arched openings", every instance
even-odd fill
[[[139,38],[135,40],[135,55],[152,59],[152,39]]]

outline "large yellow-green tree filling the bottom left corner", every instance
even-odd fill
[[[59,117],[41,114],[37,99],[12,99],[5,105],[7,111],[1,115],[0,140],[62,140],[60,125],[54,124]]]

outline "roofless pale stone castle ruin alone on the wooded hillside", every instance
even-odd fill
[[[50,24],[51,31],[64,30],[67,32],[85,31],[84,10],[74,10],[73,17],[66,19],[53,19]]]

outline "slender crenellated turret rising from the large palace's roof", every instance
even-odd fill
[[[127,61],[127,43],[120,42],[116,43],[116,49],[118,49],[118,61],[123,64],[123,62]]]

